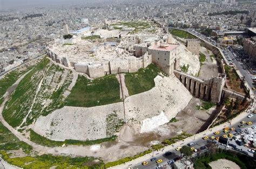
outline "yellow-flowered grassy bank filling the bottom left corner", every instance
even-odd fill
[[[9,150],[22,149],[26,153],[25,157],[11,158]],[[18,140],[5,126],[0,122],[0,154],[2,158],[9,164],[16,165],[23,168],[50,168],[57,166],[57,168],[87,168],[90,163],[91,167],[102,165],[102,161],[98,164],[93,164],[93,157],[65,157],[65,156],[52,156],[51,154],[44,154],[42,156],[31,157],[32,147],[24,142]]]

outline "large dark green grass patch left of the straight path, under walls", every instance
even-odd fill
[[[94,107],[120,101],[119,82],[116,75],[108,75],[93,80],[79,75],[76,85],[66,98],[66,105]]]

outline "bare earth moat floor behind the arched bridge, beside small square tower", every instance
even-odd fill
[[[212,51],[209,51],[205,47],[201,46],[200,52],[206,56],[206,61],[204,62],[204,65],[201,66],[201,69],[199,72],[199,78],[208,80],[215,76],[218,76],[219,71],[218,71],[217,61],[215,60],[215,58],[212,58],[213,59],[212,61],[210,57],[210,55],[213,54]]]

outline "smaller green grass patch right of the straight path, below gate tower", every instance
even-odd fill
[[[125,74],[125,85],[129,95],[139,94],[152,89],[155,86],[154,78],[160,73],[163,73],[160,68],[150,64],[145,69],[140,68],[138,72]]]

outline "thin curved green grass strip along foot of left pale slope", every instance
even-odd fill
[[[112,137],[96,139],[96,140],[87,140],[87,141],[66,139],[64,142],[60,142],[60,141],[50,140],[41,135],[38,135],[38,133],[36,133],[32,129],[30,129],[29,131],[30,131],[30,140],[32,142],[39,144],[39,145],[48,146],[48,147],[62,146],[63,144],[65,144],[65,145],[93,145],[93,144],[100,144],[100,143],[104,143],[104,142],[111,142],[117,138],[117,136],[112,136]]]

